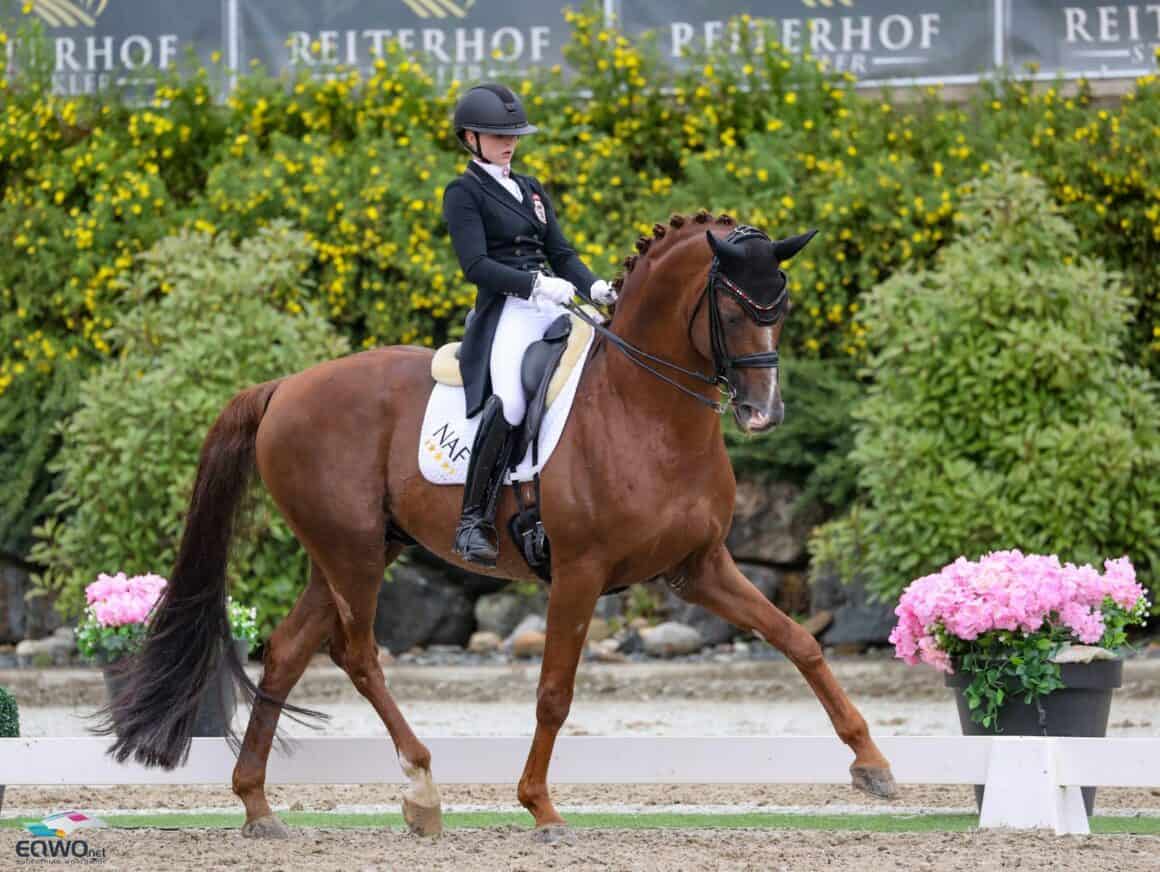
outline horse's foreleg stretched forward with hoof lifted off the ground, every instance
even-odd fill
[[[854,751],[854,786],[886,799],[897,793],[890,763],[870,737],[865,719],[834,678],[821,646],[741,574],[724,546],[706,558],[684,586],[676,587],[681,587],[682,598],[742,630],[755,630],[784,653],[813,689],[838,736]]]

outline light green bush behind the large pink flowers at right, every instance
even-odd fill
[[[960,554],[1126,553],[1155,584],[1160,402],[1125,361],[1126,289],[1079,256],[1043,182],[1013,165],[980,182],[962,223],[935,269],[867,298],[862,500],[819,531],[814,566],[861,569],[891,600]]]

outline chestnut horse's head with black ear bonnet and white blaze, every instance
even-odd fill
[[[723,387],[733,395],[733,416],[747,433],[776,427],[785,416],[777,379],[777,343],[790,310],[781,269],[817,231],[770,240],[754,227],[737,227],[720,238],[705,231],[713,253],[709,284],[698,308],[708,317],[694,343],[712,361]]]

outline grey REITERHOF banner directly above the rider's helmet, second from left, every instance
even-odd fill
[[[368,71],[396,39],[440,83],[519,75],[564,63],[565,8],[543,0],[242,0],[242,68],[259,60],[275,73]]]

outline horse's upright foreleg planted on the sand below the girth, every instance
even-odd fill
[[[536,693],[536,734],[519,789],[520,804],[536,819],[537,827],[564,823],[548,794],[548,764],[556,734],[572,706],[577,666],[603,588],[603,579],[590,571],[561,568],[557,579],[548,595],[548,639]]]

